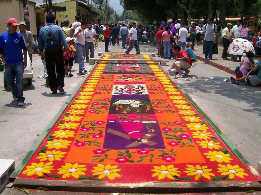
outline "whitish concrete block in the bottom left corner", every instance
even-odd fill
[[[9,182],[9,177],[15,170],[15,161],[9,159],[0,159],[0,192]]]

